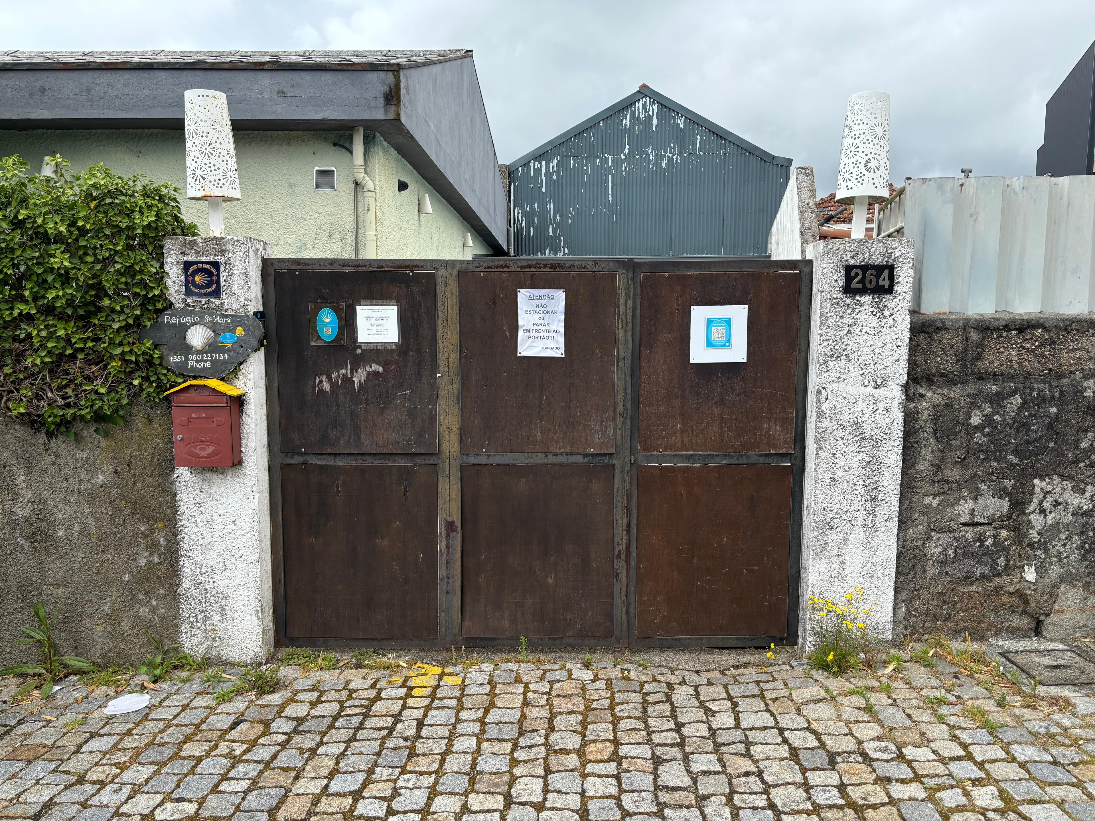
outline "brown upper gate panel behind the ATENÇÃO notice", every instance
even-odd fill
[[[565,356],[517,356],[517,290],[566,290]],[[616,271],[460,271],[465,453],[614,450]]]

